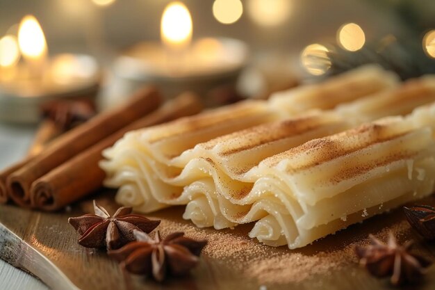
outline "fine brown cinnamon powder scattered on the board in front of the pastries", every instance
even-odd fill
[[[167,218],[168,211],[174,218]],[[412,238],[411,227],[400,210],[370,218],[297,250],[289,250],[286,245],[274,248],[250,239],[247,234],[252,224],[234,229],[200,229],[190,221],[180,220],[182,212],[183,207],[175,207],[166,209],[161,215],[157,213],[155,217],[162,219],[163,236],[183,231],[189,238],[207,239],[209,242],[203,251],[205,263],[212,261],[219,271],[260,284],[297,284],[318,275],[330,275],[333,271],[348,271],[349,268],[362,271],[354,247],[368,245],[368,234],[374,234],[381,241],[388,239],[389,231],[400,242]]]

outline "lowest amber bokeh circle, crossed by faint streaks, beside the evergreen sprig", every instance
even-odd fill
[[[307,72],[315,76],[325,74],[331,67],[328,52],[325,46],[318,43],[305,47],[301,54],[302,66]]]

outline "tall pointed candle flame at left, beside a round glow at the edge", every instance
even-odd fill
[[[25,58],[40,59],[47,54],[44,32],[33,15],[26,15],[19,24],[18,44]]]

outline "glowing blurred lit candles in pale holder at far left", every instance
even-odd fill
[[[0,39],[0,120],[38,122],[44,102],[59,97],[95,97],[98,88],[95,59],[78,54],[49,57],[44,32],[35,17],[22,19],[18,38],[6,35]]]

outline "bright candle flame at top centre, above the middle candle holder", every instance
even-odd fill
[[[171,47],[184,47],[192,39],[192,18],[181,2],[168,4],[161,20],[162,41]]]

